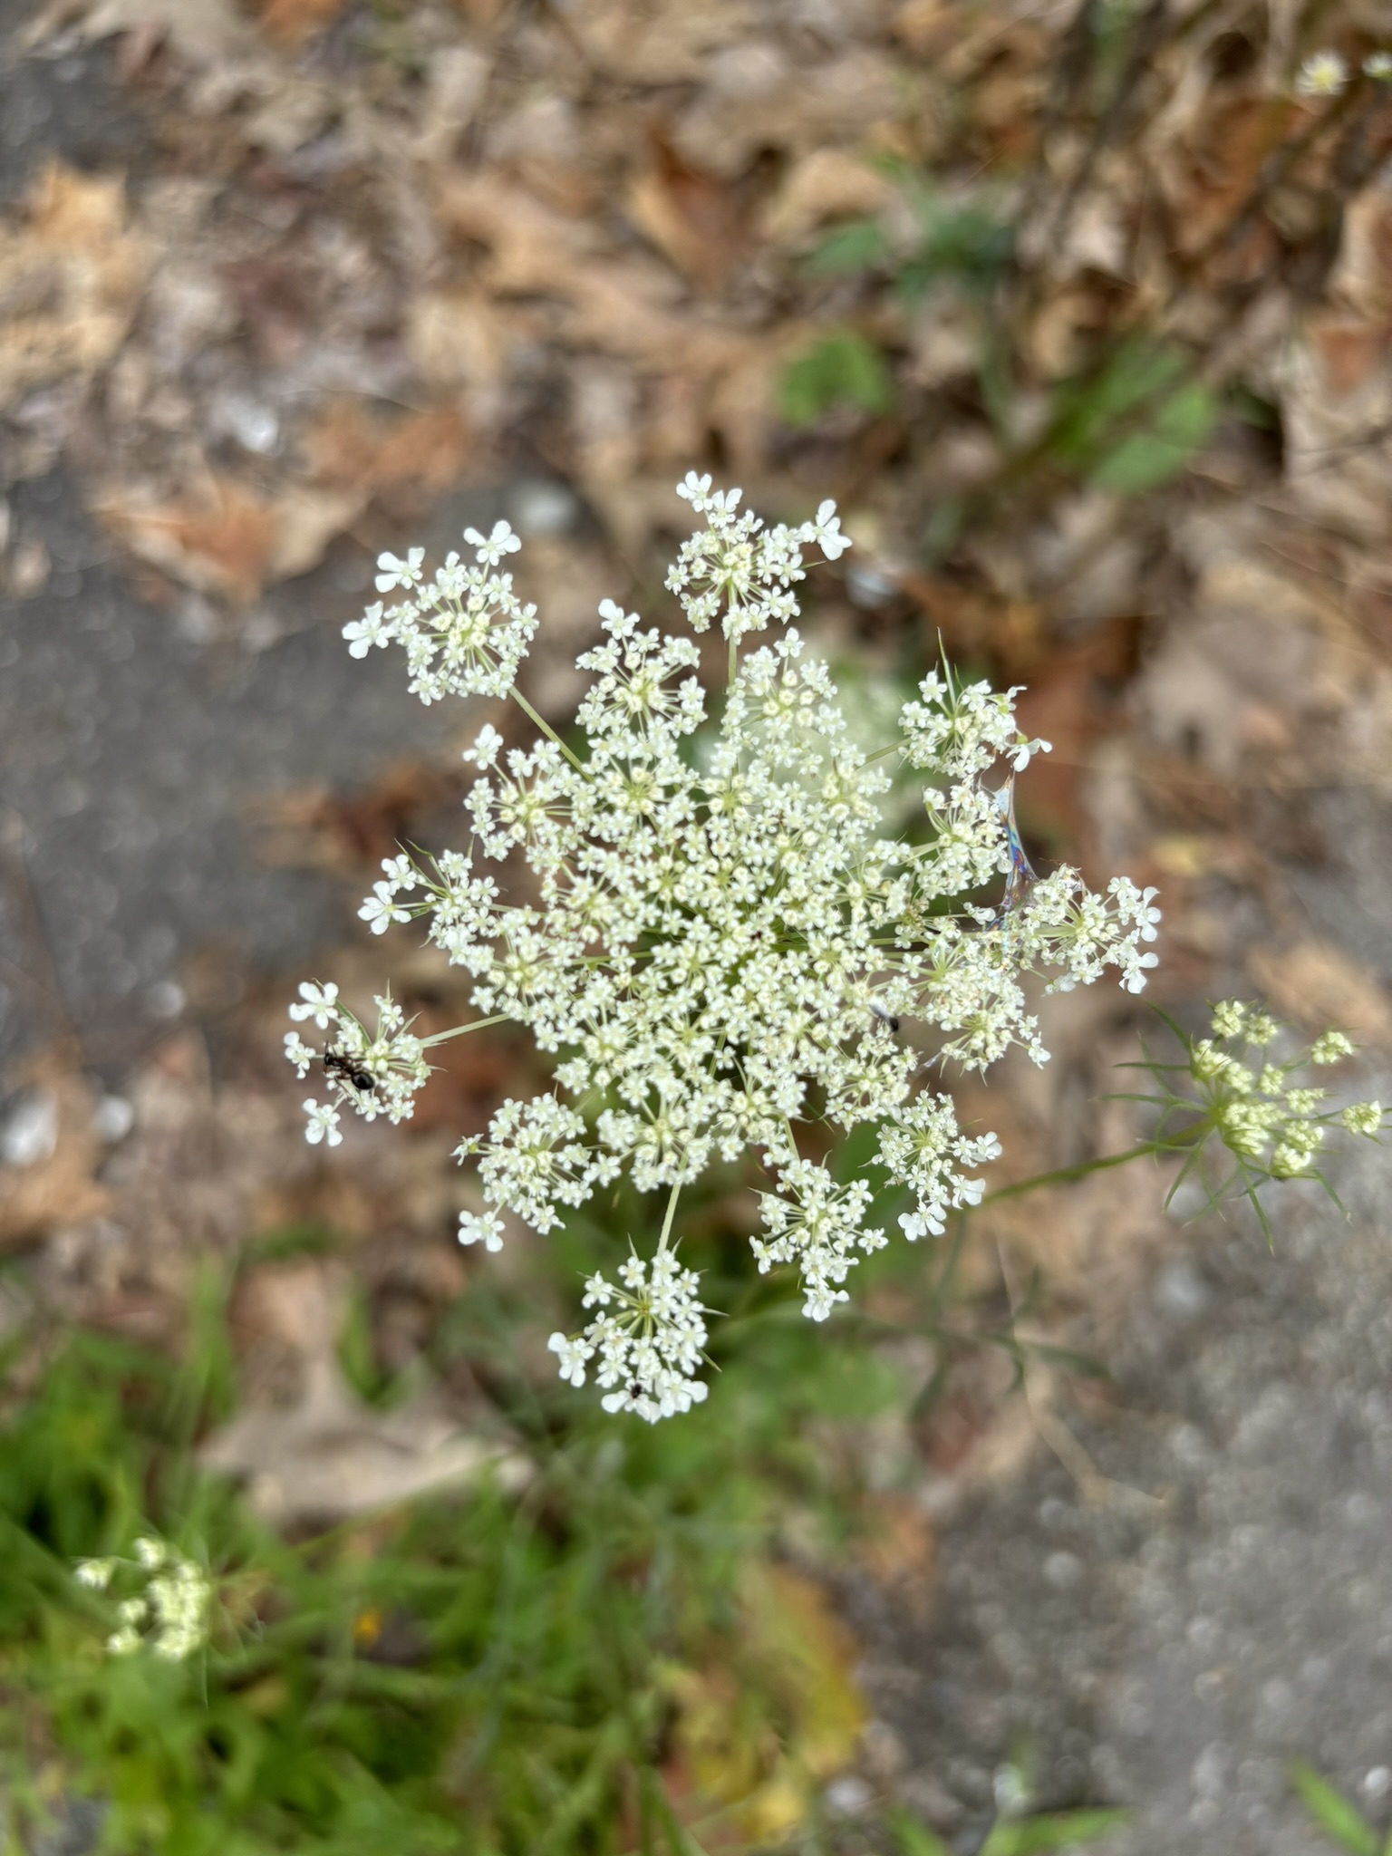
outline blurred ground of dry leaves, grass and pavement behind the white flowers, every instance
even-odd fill
[[[839,501],[804,629],[867,702],[939,640],[1025,687],[1028,850],[1158,885],[1180,1023],[1266,999],[1379,1093],[1383,48],[1379,0],[0,4],[9,1847],[1381,1847],[1375,1149],[1273,1245],[1149,1164],[1000,1203],[637,1435],[546,1353],[614,1232],[453,1238],[535,1052],[325,1154],[280,1038],[308,976],[468,1015],[354,921],[490,716],[349,659],[375,555],[507,518],[562,722],[694,468]],[[1045,1036],[960,1091],[995,1184],[1136,1134],[1145,1002]],[[219,1581],[186,1665],[69,1576],[150,1527]]]

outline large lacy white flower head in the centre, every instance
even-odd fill
[[[551,1338],[564,1379],[594,1370],[605,1405],[650,1420],[705,1396],[709,1310],[674,1258],[685,1186],[754,1154],[767,1175],[757,1266],[796,1266],[804,1312],[824,1320],[859,1257],[887,1240],[867,1229],[869,1184],[806,1158],[798,1123],[872,1125],[876,1171],[911,1195],[900,1231],[941,1232],[980,1197],[974,1169],[999,1145],[958,1127],[898,1025],[917,1021],[939,1058],[973,1067],[1017,1043],[1045,1062],[1025,976],[1067,989],[1110,967],[1140,991],[1158,921],[1154,891],[1117,876],[1097,895],[1071,869],[1012,885],[1006,908],[973,900],[1012,870],[1002,778],[1049,746],[1019,731],[1017,690],[934,670],[898,739],[867,752],[791,624],[807,553],[835,561],[850,546],[835,507],[767,527],[709,477],[692,473],[679,496],[703,525],[666,585],[692,631],[718,622],[728,638],[716,718],[696,642],[605,601],[603,642],[577,661],[592,677],[575,716],[583,746],[566,744],[514,685],[535,612],[496,572],[518,546],[505,525],[468,536],[477,566],[451,555],[434,581],[419,549],[384,555],[379,588],[405,598],[347,627],[358,655],[403,644],[423,700],[507,694],[540,729],[503,752],[483,728],[466,754],[479,770],[470,848],[388,859],[362,915],[375,932],[419,922],[471,974],[479,1019],[458,1030],[507,1019],[555,1058],[551,1091],[503,1102],[460,1143],[483,1195],[462,1242],[499,1249],[505,1214],[546,1232],[620,1173],[668,1193],[655,1253],[635,1253],[618,1282],[592,1277],[594,1320]],[[752,646],[759,633],[768,640]],[[926,835],[887,824],[891,768],[919,787]],[[494,876],[514,854],[531,869],[527,900]],[[345,1108],[408,1115],[429,1045],[458,1034],[418,1039],[390,997],[377,1004],[375,1036],[332,986],[304,986],[291,1006],[327,1032],[327,1054],[373,1078],[358,1089],[332,1063],[334,1099],[310,1106],[310,1140],[334,1141]],[[286,1054],[301,1075],[317,1056],[299,1032]]]

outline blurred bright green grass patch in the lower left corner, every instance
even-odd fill
[[[661,1726],[661,1659],[729,1587],[767,1498],[696,1431],[676,1464],[611,1425],[496,1489],[293,1550],[182,1464],[163,1531],[219,1574],[187,1665],[108,1657],[110,1604],[76,1557],[128,1550],[178,1450],[184,1375],[74,1334],[0,1440],[0,1758],[24,1800],[104,1804],[110,1850],[616,1849],[625,1774]],[[30,1787],[30,1802],[33,1795]],[[659,1837],[653,1849],[677,1845]]]

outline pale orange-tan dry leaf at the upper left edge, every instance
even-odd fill
[[[0,223],[0,406],[121,347],[154,262],[121,174],[50,161],[19,225]]]

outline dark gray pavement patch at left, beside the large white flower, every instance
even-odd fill
[[[386,653],[347,655],[367,585],[351,544],[228,638],[197,603],[141,605],[61,475],[11,501],[54,572],[0,605],[0,1063],[52,1034],[56,969],[89,1062],[111,1065],[180,1010],[195,954],[232,1004],[249,971],[342,941],[342,885],[260,861],[258,800],[364,787],[460,722]]]

